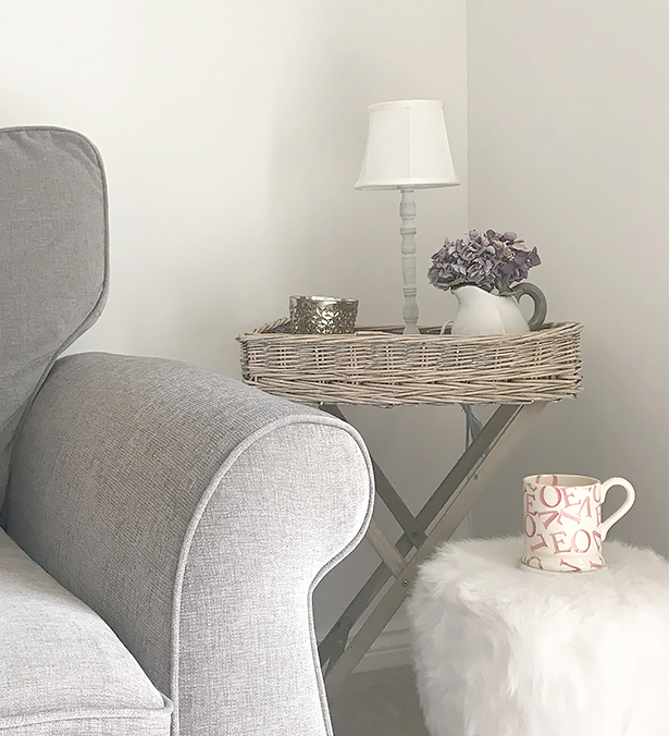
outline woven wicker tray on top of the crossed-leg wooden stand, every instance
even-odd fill
[[[462,338],[421,328],[358,328],[355,334],[290,334],[277,320],[240,334],[246,383],[324,404],[529,404],[581,391],[581,330],[548,323],[519,335]]]

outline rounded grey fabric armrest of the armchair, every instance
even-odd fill
[[[346,424],[156,359],[57,363],[23,425],[8,531],[116,631],[174,734],[330,734],[311,592],[371,515]]]

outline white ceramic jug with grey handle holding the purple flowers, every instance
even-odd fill
[[[531,283],[518,284],[513,296],[498,296],[479,289],[460,286],[454,290],[458,299],[458,314],[453,321],[451,334],[519,334],[537,330],[546,318],[546,297]],[[528,294],[534,302],[534,314],[525,320],[518,306],[518,299]]]

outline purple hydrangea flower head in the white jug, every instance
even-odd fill
[[[536,248],[528,250],[516,233],[471,230],[454,243],[446,238],[432,256],[428,279],[445,291],[470,284],[505,295],[541,262]]]

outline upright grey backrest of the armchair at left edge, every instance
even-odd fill
[[[12,443],[57,356],[107,296],[107,187],[92,144],[0,130],[0,507]]]

